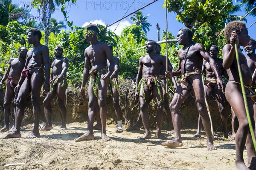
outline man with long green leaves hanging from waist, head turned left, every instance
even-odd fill
[[[82,141],[85,139],[94,139],[93,135],[93,122],[97,112],[100,114],[102,123],[101,138],[103,141],[110,141],[111,138],[106,133],[106,119],[107,119],[107,106],[106,97],[108,89],[108,81],[113,73],[114,62],[108,44],[102,43],[97,40],[97,34],[99,34],[99,28],[94,24],[89,24],[87,27],[86,39],[91,42],[91,45],[84,50],[84,72],[83,81],[81,85],[80,95],[84,95],[85,84],[87,82],[88,75],[91,75],[89,82],[89,110],[88,110],[88,125],[87,132],[81,135],[79,138],[75,138],[75,141]],[[110,62],[109,72],[106,73],[107,60]],[[89,70],[89,66],[92,69]],[[99,108],[99,109],[97,109]]]

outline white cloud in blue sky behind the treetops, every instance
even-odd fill
[[[98,23],[100,25],[106,26],[105,21],[103,21],[103,20],[90,20],[90,22],[85,22],[82,25],[82,27],[87,26],[89,23],[94,23],[94,24]],[[116,28],[117,24],[118,23],[115,23],[112,26],[108,27],[108,29],[110,29],[112,32],[116,29],[115,33],[117,35],[120,35],[122,32],[122,29],[124,29],[126,26],[131,26],[131,23],[128,20],[122,20],[119,23],[118,27]]]

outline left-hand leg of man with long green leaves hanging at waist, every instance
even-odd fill
[[[83,141],[83,140],[91,140],[94,139],[93,135],[93,122],[95,119],[95,115],[97,114],[95,108],[98,105],[97,98],[93,94],[93,87],[89,81],[89,88],[88,88],[88,95],[89,95],[89,102],[88,102],[88,118],[87,118],[87,131],[81,135],[79,138],[75,138],[76,142]]]

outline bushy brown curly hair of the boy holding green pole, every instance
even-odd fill
[[[227,23],[224,31],[224,37],[227,43],[230,44],[231,32],[236,31],[237,34],[239,34],[243,28],[246,28],[246,26],[245,23],[241,21],[232,21]]]

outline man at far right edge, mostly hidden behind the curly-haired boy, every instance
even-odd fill
[[[255,54],[255,49],[256,49],[256,40],[254,40],[253,38],[250,38],[249,43],[247,44],[247,46],[244,46],[244,51],[247,54],[246,60],[247,60],[247,64],[251,70],[251,72],[253,73],[256,69],[256,54]],[[253,78],[252,84],[251,84],[251,89],[254,91],[256,89],[256,76]],[[254,121],[256,121],[256,97],[252,97],[253,100],[253,111],[254,111]],[[236,114],[235,112],[233,112],[232,109],[232,135],[234,137],[236,137],[236,132],[235,132],[235,118],[236,118]],[[256,129],[255,132],[256,134]]]

